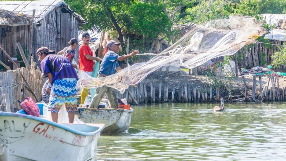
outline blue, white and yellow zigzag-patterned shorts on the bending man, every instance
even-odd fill
[[[67,112],[77,111],[76,78],[55,80],[49,99],[49,111],[58,113],[63,104]]]

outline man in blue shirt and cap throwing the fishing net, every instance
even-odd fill
[[[101,67],[98,72],[98,77],[106,77],[108,75],[115,74],[116,71],[121,69],[119,67],[118,61],[125,60],[139,53],[138,50],[134,50],[130,54],[119,56],[117,54],[119,51],[119,45],[120,43],[117,43],[114,40],[107,42],[106,46],[109,51],[103,57]],[[107,86],[96,88],[95,95],[90,103],[90,108],[97,108],[105,93],[108,97],[111,108],[118,108],[118,101],[115,89]]]

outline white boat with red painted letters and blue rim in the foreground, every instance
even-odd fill
[[[89,160],[104,124],[59,124],[0,112],[0,161]]]

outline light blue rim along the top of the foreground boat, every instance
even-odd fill
[[[75,134],[83,135],[83,136],[91,136],[91,135],[95,135],[97,133],[100,133],[100,131],[102,131],[102,129],[105,126],[104,124],[102,126],[96,125],[96,127],[98,127],[98,129],[96,131],[85,133],[85,132],[81,132],[81,131],[75,130],[73,128],[69,128],[67,126],[52,122],[52,121],[49,121],[49,120],[43,119],[41,117],[35,117],[35,116],[31,116],[31,115],[24,115],[24,114],[20,114],[20,113],[12,113],[12,112],[0,112],[0,116],[22,117],[22,118],[27,118],[27,119],[31,119],[31,120],[36,120],[36,121],[40,121],[43,123],[53,125],[55,127],[61,128],[63,130],[69,131],[71,133],[75,133]]]

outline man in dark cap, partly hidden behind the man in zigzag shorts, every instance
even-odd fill
[[[60,52],[58,52],[58,55],[63,55],[66,57],[70,62],[73,62],[73,58],[75,57],[75,49],[78,47],[78,39],[71,38],[68,42],[70,46],[65,47]],[[73,64],[73,67],[76,68],[76,65]]]

